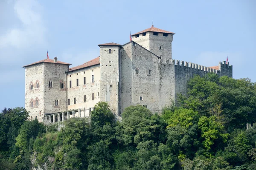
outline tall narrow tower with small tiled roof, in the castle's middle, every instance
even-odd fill
[[[120,48],[116,43],[99,44],[100,47],[100,100],[108,102],[115,115],[120,113]]]

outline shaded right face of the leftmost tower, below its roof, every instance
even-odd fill
[[[44,113],[57,113],[67,111],[67,85],[66,74],[68,65],[44,62]],[[52,81],[52,87],[49,87]],[[64,82],[64,88],[60,87]],[[58,99],[58,106],[55,100]]]

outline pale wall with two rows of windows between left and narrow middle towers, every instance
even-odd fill
[[[93,82],[92,82],[93,75]],[[85,85],[84,85],[85,77]],[[76,79],[79,79],[79,86],[76,84]],[[72,87],[70,88],[70,81]],[[93,108],[100,101],[100,67],[93,65],[88,68],[82,68],[67,73],[67,100],[70,99],[68,110]],[[92,99],[94,94],[94,99]],[[84,95],[86,101],[84,102]],[[76,104],[74,98],[76,97]],[[78,115],[77,115],[78,116]],[[84,116],[84,111],[81,112]],[[89,116],[89,110],[85,111],[85,116]]]

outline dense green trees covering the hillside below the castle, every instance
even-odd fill
[[[137,105],[122,122],[99,102],[91,119],[58,131],[25,121],[22,108],[0,114],[0,166],[65,170],[255,170],[256,84],[207,74],[161,115]],[[16,118],[15,118],[16,116]]]

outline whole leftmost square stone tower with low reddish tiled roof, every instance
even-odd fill
[[[25,108],[30,120],[41,118],[47,113],[67,110],[66,73],[69,63],[44,59],[25,68]]]

